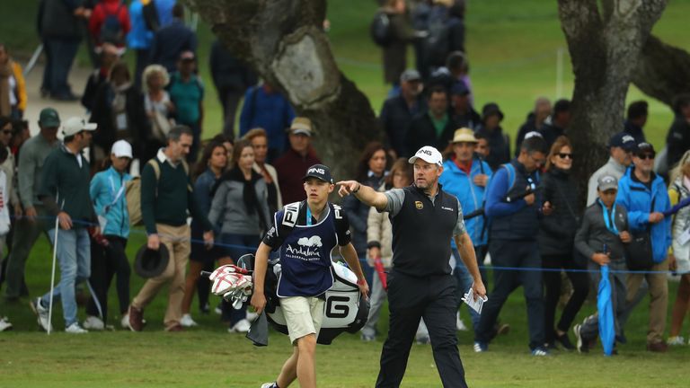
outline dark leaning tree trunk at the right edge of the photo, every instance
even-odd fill
[[[642,48],[632,83],[643,93],[673,107],[678,94],[690,93],[690,54],[652,35]]]

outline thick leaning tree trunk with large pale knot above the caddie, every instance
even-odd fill
[[[380,140],[364,93],[335,63],[323,31],[325,0],[185,0],[235,56],[278,87],[314,123],[314,145],[334,179],[354,177],[355,160]]]

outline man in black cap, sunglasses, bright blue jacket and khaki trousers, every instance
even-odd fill
[[[631,232],[650,234],[651,254],[654,264],[647,273],[631,273],[627,278],[626,304],[632,304],[641,286],[647,280],[650,293],[650,329],[647,334],[647,350],[665,352],[663,340],[668,307],[667,252],[671,244],[671,219],[661,213],[670,207],[664,180],[653,172],[654,146],[640,143],[632,155],[632,167],[618,181],[615,202],[628,212]],[[620,322],[624,327],[624,320]]]

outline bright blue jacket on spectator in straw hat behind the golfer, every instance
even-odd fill
[[[457,164],[450,159],[443,163],[443,173],[438,178],[438,183],[443,185],[443,190],[453,194],[460,200],[460,206],[463,208],[464,215],[468,215],[483,206],[486,188],[473,183],[474,177],[479,174],[485,174],[491,179],[493,172],[491,172],[489,163],[474,159],[469,175],[460,170]],[[489,231],[483,230],[484,223],[484,216],[475,216],[464,222],[464,226],[467,233],[470,234],[474,246],[486,245],[488,241]],[[456,247],[455,244],[455,241],[451,242],[454,248]]]

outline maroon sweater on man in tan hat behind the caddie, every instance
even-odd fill
[[[306,156],[297,154],[292,148],[279,157],[273,163],[278,172],[280,194],[283,196],[283,204],[301,201],[306,198],[305,187],[302,184],[306,170],[314,164],[320,164],[321,160],[314,154],[310,147]]]

